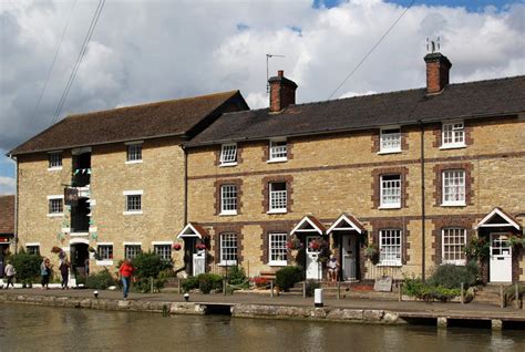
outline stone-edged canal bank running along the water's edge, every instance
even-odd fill
[[[367,299],[325,300],[325,307],[313,307],[312,299],[298,297],[259,297],[192,294],[185,301],[175,293],[134,293],[122,300],[115,291],[21,289],[0,291],[0,303],[37,304],[110,311],[138,311],[163,314],[227,314],[238,318],[294,319],[310,321],[374,324],[475,324],[500,330],[525,327],[525,312],[487,304],[393,302]]]

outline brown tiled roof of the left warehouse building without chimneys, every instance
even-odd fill
[[[248,108],[240,92],[230,91],[71,115],[10,154],[191,134],[209,116],[218,117],[220,108],[229,102],[237,102],[240,108]]]

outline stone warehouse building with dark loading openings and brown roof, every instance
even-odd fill
[[[74,272],[86,259],[99,270],[141,250],[183,266],[172,251],[186,222],[181,145],[223,113],[246,108],[233,91],[72,115],[32,137],[10,152],[18,247],[55,261],[59,247]]]

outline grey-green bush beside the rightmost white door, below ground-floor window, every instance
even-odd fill
[[[476,284],[478,275],[480,268],[475,261],[470,261],[466,266],[443,265],[429,278],[429,284],[459,289],[463,282],[465,288],[470,288]]]

